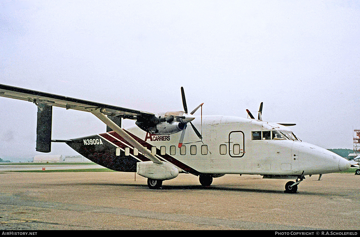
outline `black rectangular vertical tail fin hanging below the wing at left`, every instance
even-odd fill
[[[51,151],[53,106],[37,104],[36,151]]]

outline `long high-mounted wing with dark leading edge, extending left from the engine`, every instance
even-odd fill
[[[26,100],[36,105],[51,105],[66,109],[75,109],[89,112],[89,108],[102,108],[105,115],[120,116],[128,119],[136,119],[137,117],[153,117],[153,113],[127,109],[114,105],[101,104],[98,102],[80,100],[66,96],[60,96],[40,91],[33,91],[24,88],[7,86],[0,84],[0,96],[18,100]]]

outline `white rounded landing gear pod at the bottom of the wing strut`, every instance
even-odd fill
[[[179,169],[167,162],[156,164],[153,161],[143,161],[137,163],[136,173],[145,178],[168,180],[176,178]]]

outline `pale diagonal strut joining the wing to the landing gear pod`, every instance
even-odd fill
[[[132,138],[129,134],[127,134],[123,129],[121,129],[116,123],[114,123],[111,119],[101,113],[101,108],[89,108],[87,109],[89,112],[94,114],[98,119],[102,120],[107,126],[113,129],[119,136],[124,138],[127,142],[129,142],[132,146],[138,149],[143,155],[152,160],[156,164],[162,164],[163,162],[159,160],[156,156],[154,156],[146,147],[141,145],[138,141]]]

